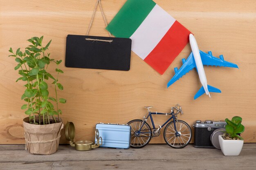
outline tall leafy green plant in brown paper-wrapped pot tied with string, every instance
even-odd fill
[[[58,150],[60,132],[63,128],[63,121],[59,117],[62,113],[58,108],[59,103],[66,103],[66,99],[58,98],[57,89],[63,90],[58,82],[58,76],[63,73],[58,68],[61,60],[50,59],[50,53],[46,53],[52,40],[43,46],[43,36],[33,37],[27,40],[31,44],[21,51],[20,48],[13,52],[10,48],[9,57],[14,57],[18,65],[19,77],[16,82],[25,82],[25,91],[21,99],[26,104],[21,106],[28,115],[23,119],[25,130],[26,149],[31,154],[50,155]],[[56,63],[56,77],[47,71],[49,64]],[[54,88],[54,96],[49,95],[48,83],[51,81]]]

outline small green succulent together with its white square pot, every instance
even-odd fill
[[[225,119],[225,133],[219,135],[220,148],[225,156],[238,156],[243,148],[243,138],[240,134],[245,131],[245,126],[241,124],[242,118],[233,117],[231,120]]]

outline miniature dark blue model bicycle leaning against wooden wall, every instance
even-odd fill
[[[171,108],[171,113],[157,113],[150,112],[152,106],[145,106],[148,109],[148,113],[143,117],[143,120],[135,119],[128,122],[131,126],[131,144],[132,148],[142,148],[146,146],[150,139],[160,135],[160,130],[169,122],[164,128],[164,140],[166,144],[173,148],[184,148],[189,144],[192,139],[192,130],[185,121],[177,120],[177,115],[182,112],[182,108],[179,104]],[[152,115],[171,115],[171,117],[162,126],[155,128]],[[150,117],[153,128],[150,128],[146,122]]]

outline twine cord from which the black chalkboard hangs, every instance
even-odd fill
[[[101,0],[97,0],[97,2],[96,2],[96,4],[95,4],[95,7],[94,7],[94,11],[93,11],[93,13],[92,13],[92,19],[91,19],[91,22],[90,22],[90,25],[89,25],[89,28],[88,28],[88,30],[87,30],[86,35],[89,34],[90,29],[91,29],[91,27],[92,27],[92,22],[93,22],[93,19],[94,19],[94,17],[95,17],[95,13],[96,13],[96,11],[97,11],[98,4],[99,4],[99,8],[101,9],[101,15],[102,15],[102,17],[103,17],[103,20],[104,20],[106,26],[108,26],[108,22],[107,22],[107,20],[106,20],[106,17],[105,17],[105,15],[104,15],[104,13],[103,13],[103,9],[102,9],[102,6],[101,6]],[[108,34],[109,34],[110,37],[112,37],[112,35],[111,35],[111,33],[110,33],[109,31],[108,31]],[[113,40],[100,40],[100,39],[93,39],[93,38],[85,38],[85,40],[88,40],[88,41],[103,41],[103,42],[112,42],[112,41],[113,41]]]

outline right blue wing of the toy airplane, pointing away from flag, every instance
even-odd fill
[[[212,55],[211,51],[209,51],[208,54],[204,53],[201,50],[199,50],[199,52],[200,52],[203,65],[238,68],[236,64],[225,61],[223,58],[223,55],[220,55],[220,58],[217,58]]]

